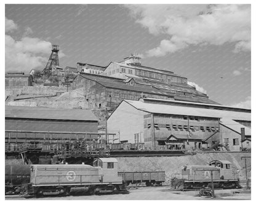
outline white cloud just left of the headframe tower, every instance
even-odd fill
[[[33,32],[25,29],[27,33]],[[43,69],[46,66],[52,50],[52,43],[36,37],[23,36],[15,40],[12,36],[5,36],[6,40],[6,71],[16,70],[28,72],[31,69]],[[65,56],[60,52],[59,58]]]

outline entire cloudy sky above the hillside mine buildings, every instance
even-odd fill
[[[210,99],[250,108],[250,5],[6,5],[6,72],[106,66],[130,53],[187,77]]]

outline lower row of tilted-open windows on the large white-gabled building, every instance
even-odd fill
[[[144,128],[145,129],[150,129],[151,128],[151,124],[144,124]],[[171,130],[174,129],[174,130],[202,130],[202,131],[208,131],[208,132],[215,132],[216,130],[218,130],[218,127],[204,127],[204,126],[187,126],[187,125],[177,125],[177,124],[154,124],[154,128],[156,128],[157,130],[159,130],[160,128],[166,128],[167,130]]]

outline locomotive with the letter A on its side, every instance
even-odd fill
[[[185,165],[182,173],[172,175],[172,187],[183,189],[201,189],[212,182],[219,188],[238,188],[239,178],[236,168],[229,161],[214,160],[207,165]]]

